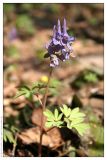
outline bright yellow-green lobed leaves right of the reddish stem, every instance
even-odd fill
[[[55,109],[54,113],[46,109],[44,115],[47,117],[46,127],[67,127],[69,129],[75,129],[81,136],[89,129],[89,125],[84,122],[85,114],[79,111],[79,108],[71,109],[65,104],[58,109]],[[63,118],[62,118],[63,117]]]

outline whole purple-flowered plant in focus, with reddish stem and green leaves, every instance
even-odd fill
[[[21,90],[21,95],[24,94],[26,98],[29,100],[29,95],[36,95],[38,98],[38,101],[40,102],[40,105],[42,106],[42,116],[41,116],[41,125],[40,125],[40,143],[38,148],[38,156],[42,156],[42,138],[44,134],[44,116],[47,117],[46,127],[67,127],[69,129],[76,129],[80,135],[83,135],[84,130],[88,128],[86,124],[83,123],[84,121],[84,114],[79,112],[79,108],[76,108],[75,110],[71,110],[66,105],[63,105],[62,108],[60,108],[60,113],[57,109],[55,109],[54,114],[46,109],[46,101],[48,97],[48,89],[50,84],[50,79],[52,76],[53,68],[59,65],[59,60],[65,61],[70,58],[70,53],[72,53],[72,42],[74,42],[75,38],[72,36],[69,36],[67,33],[67,27],[66,27],[66,20],[63,21],[63,26],[61,28],[60,20],[58,20],[57,26],[55,25],[53,28],[53,37],[49,44],[46,45],[46,49],[48,51],[47,54],[45,54],[46,57],[50,57],[50,73],[48,82],[46,84],[46,90],[43,96],[43,100],[41,101],[38,98],[39,93],[35,93],[34,89],[35,87],[40,86],[34,86],[33,88],[29,89],[26,87],[23,90]],[[73,55],[72,55],[73,56]],[[43,87],[43,86],[42,86]],[[31,94],[29,94],[29,92]],[[30,99],[33,99],[30,97]],[[33,104],[34,105],[34,104]]]

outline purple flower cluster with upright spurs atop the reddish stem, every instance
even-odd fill
[[[57,26],[53,27],[53,37],[51,41],[46,45],[48,51],[45,57],[50,57],[50,66],[55,67],[59,65],[59,60],[65,61],[70,58],[72,53],[72,42],[75,40],[73,36],[69,36],[67,33],[66,20],[63,21],[61,28],[60,20],[58,19]],[[71,54],[73,57],[74,55]]]

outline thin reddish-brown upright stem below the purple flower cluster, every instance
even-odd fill
[[[41,115],[41,127],[40,127],[40,144],[39,144],[39,149],[38,149],[38,156],[39,157],[42,156],[42,137],[43,137],[43,119],[44,119],[43,111],[45,110],[45,106],[46,106],[46,101],[47,101],[47,96],[48,96],[48,88],[49,88],[49,83],[50,83],[50,79],[51,79],[51,76],[52,76],[52,71],[53,71],[53,69],[51,68],[50,73],[49,73],[47,86],[46,86],[46,90],[45,90],[45,94],[44,94],[44,97],[43,97],[43,103],[42,103],[42,115]]]

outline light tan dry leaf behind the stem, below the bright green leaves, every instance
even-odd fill
[[[50,132],[50,133],[49,133]],[[56,145],[60,144],[62,139],[59,135],[59,131],[57,128],[52,129],[47,134],[43,134],[43,141],[42,145],[49,146],[51,148],[56,147]],[[19,139],[22,140],[24,144],[31,144],[31,143],[39,143],[40,142],[40,128],[30,128],[18,135]]]

